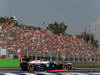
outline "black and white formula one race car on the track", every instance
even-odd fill
[[[22,61],[21,69],[24,71],[52,71],[52,72],[69,72],[72,69],[71,64],[58,64],[44,60]]]

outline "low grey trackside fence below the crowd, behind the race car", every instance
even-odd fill
[[[61,56],[30,56],[32,60],[40,60],[45,59],[49,61],[60,62],[72,62],[72,63],[100,63],[100,57],[94,56],[76,56],[76,55],[66,55],[64,57]]]

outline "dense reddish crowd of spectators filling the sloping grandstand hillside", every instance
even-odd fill
[[[27,29],[15,23],[0,23],[0,47],[16,55],[60,56],[95,54],[96,48],[83,39],[55,35],[42,29]]]

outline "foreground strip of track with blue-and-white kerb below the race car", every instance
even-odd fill
[[[20,69],[0,69],[0,75],[100,75],[99,70],[75,70],[71,72],[34,72],[29,73]]]

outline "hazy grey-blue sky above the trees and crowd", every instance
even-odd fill
[[[0,0],[0,16],[16,16],[20,23],[41,27],[43,22],[64,22],[73,35],[91,25],[100,40],[100,0]]]

